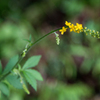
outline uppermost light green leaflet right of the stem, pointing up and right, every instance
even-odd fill
[[[32,57],[30,57],[26,61],[26,63],[24,64],[23,69],[35,67],[39,63],[40,58],[41,58],[40,55],[39,56],[32,56]]]

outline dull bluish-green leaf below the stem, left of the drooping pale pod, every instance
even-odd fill
[[[20,83],[20,78],[17,75],[8,75],[6,80],[15,88],[22,89],[22,84]]]

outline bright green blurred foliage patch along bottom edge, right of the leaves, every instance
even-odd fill
[[[92,94],[91,88],[82,83],[65,85],[59,82],[56,85],[55,83],[49,86],[45,84],[44,87],[39,100],[82,100],[84,96],[89,97]]]

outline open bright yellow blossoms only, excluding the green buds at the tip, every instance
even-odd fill
[[[82,24],[76,23],[76,25],[71,24],[70,22],[65,22],[65,25],[70,28],[70,32],[74,31],[75,33],[80,33],[83,32],[83,27]],[[61,32],[61,34],[63,35],[64,32],[66,32],[66,30],[68,29],[66,27],[62,27],[62,29],[60,29],[59,31]]]

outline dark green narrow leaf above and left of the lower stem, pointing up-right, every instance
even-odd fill
[[[10,72],[12,70],[12,68],[15,66],[15,64],[17,63],[18,61],[18,55],[12,57],[10,59],[10,61],[7,63],[4,71],[3,71],[3,74],[7,74],[8,72]]]

